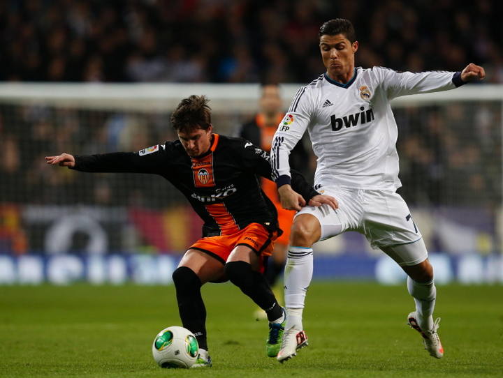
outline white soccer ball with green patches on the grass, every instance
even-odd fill
[[[152,356],[161,368],[190,368],[198,353],[196,336],[187,328],[178,326],[164,328],[152,344]]]

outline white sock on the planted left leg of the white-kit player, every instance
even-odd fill
[[[312,248],[290,247],[284,273],[286,329],[302,330],[302,310],[312,271]]]

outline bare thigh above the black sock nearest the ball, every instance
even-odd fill
[[[224,262],[201,250],[187,250],[178,266],[194,271],[203,284],[224,279]]]

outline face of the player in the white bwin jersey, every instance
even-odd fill
[[[321,59],[331,79],[344,82],[351,79],[358,41],[351,43],[344,34],[335,36],[325,34],[320,38],[320,50]]]

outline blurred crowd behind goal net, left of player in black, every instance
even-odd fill
[[[0,105],[0,192],[17,204],[98,204],[163,206],[180,199],[154,195],[138,176],[74,174],[45,164],[61,151],[85,155],[139,151],[173,140],[169,114],[131,114],[46,106]],[[142,175],[140,175],[142,176]],[[163,180],[160,179],[162,182]],[[155,179],[150,178],[150,183]],[[136,190],[143,188],[135,195]],[[163,183],[166,190],[166,183]],[[174,196],[174,197],[173,197]],[[149,202],[146,202],[150,199]]]

